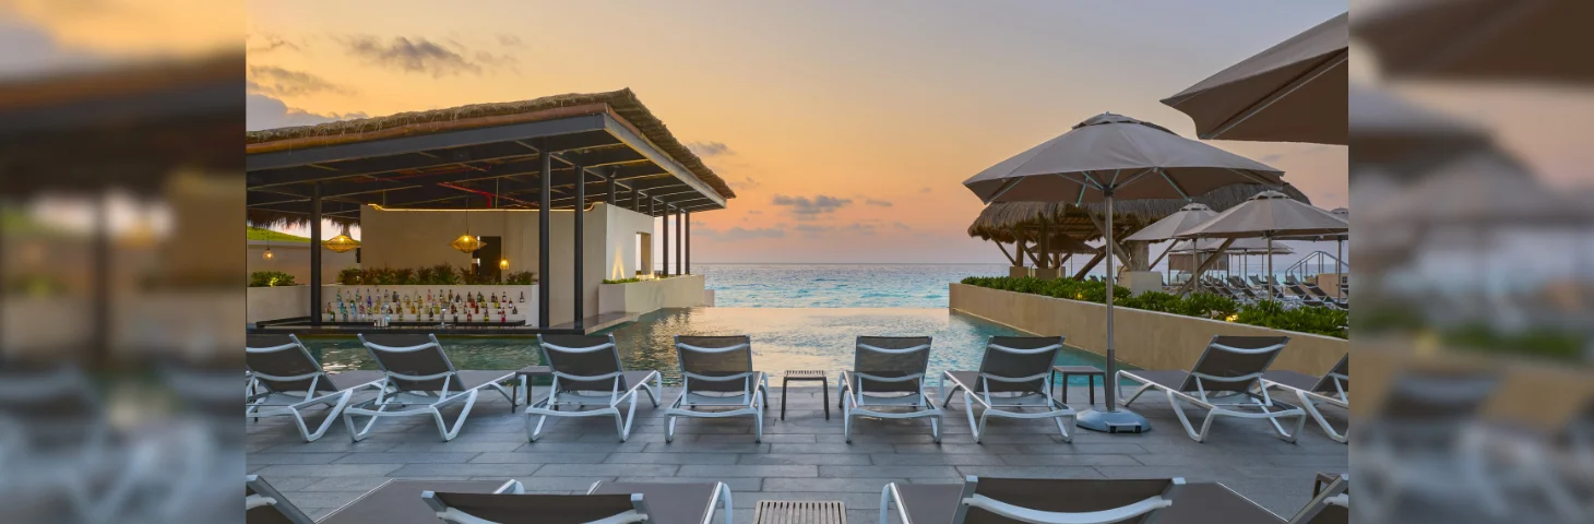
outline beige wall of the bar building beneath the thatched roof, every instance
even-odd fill
[[[367,268],[419,268],[450,263],[464,268],[470,256],[448,245],[465,233],[469,213],[470,234],[501,236],[507,272],[537,271],[539,213],[536,210],[389,210],[376,205],[360,209],[362,264]],[[572,210],[552,212],[552,255],[548,256],[550,322],[555,325],[574,320],[575,264]],[[647,215],[595,204],[582,213],[585,220],[585,253],[582,287],[587,317],[598,314],[598,287],[617,271],[631,276],[636,271],[636,233],[650,233],[654,221]],[[493,261],[483,261],[493,263]],[[542,271],[537,271],[542,274]]]

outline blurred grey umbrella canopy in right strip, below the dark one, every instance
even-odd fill
[[[1435,164],[1490,142],[1489,131],[1419,107],[1393,92],[1350,86],[1353,164]]]

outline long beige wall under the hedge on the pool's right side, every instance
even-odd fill
[[[1068,346],[1106,352],[1106,306],[1030,293],[952,284],[950,307],[1042,336],[1066,334]],[[1144,370],[1189,370],[1215,334],[1288,334],[1274,370],[1321,374],[1350,350],[1345,339],[1269,330],[1117,307],[1113,312],[1117,360]]]

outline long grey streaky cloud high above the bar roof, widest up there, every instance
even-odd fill
[[[421,37],[394,37],[389,43],[381,43],[376,37],[346,37],[341,43],[349,54],[370,64],[406,73],[426,73],[432,78],[465,73],[481,76],[485,72],[512,68],[518,64],[512,56],[494,56],[486,51],[467,57],[470,51],[457,43],[454,48],[459,51],[454,51]]]

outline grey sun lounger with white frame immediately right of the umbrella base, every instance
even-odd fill
[[[1290,344],[1288,336],[1213,336],[1191,371],[1117,371],[1111,379],[1113,387],[1119,387],[1121,379],[1140,382],[1133,395],[1122,397],[1124,406],[1133,403],[1148,390],[1162,390],[1173,406],[1184,432],[1192,440],[1203,441],[1211,428],[1211,420],[1218,416],[1237,419],[1267,419],[1274,425],[1278,438],[1293,443],[1301,427],[1305,425],[1305,411],[1280,401],[1274,401],[1262,387],[1262,373],[1272,365],[1278,352]],[[1180,401],[1194,405],[1207,411],[1200,432],[1191,425],[1189,417]],[[1277,408],[1277,409],[1275,409]],[[1296,417],[1294,432],[1286,432],[1278,419]]]

